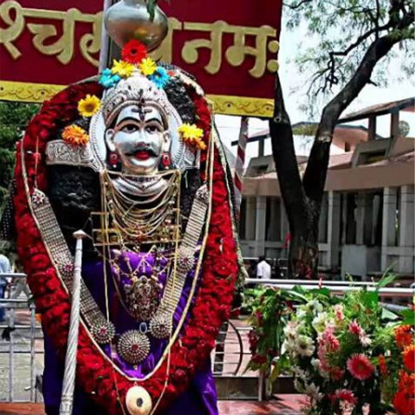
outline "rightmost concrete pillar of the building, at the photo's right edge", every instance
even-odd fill
[[[399,272],[413,273],[415,242],[415,187],[400,189]]]

